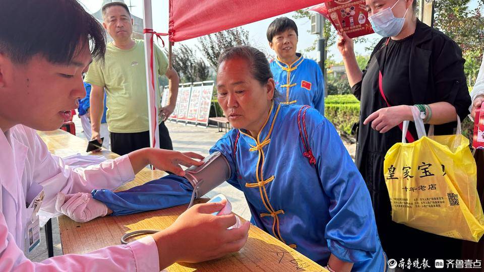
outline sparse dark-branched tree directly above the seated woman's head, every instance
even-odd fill
[[[208,63],[216,69],[218,57],[223,50],[237,45],[250,45],[249,31],[236,27],[202,36],[198,38],[198,42],[200,46],[197,48],[203,53]]]

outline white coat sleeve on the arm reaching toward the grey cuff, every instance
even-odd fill
[[[72,169],[62,158],[52,155],[40,136],[36,132],[33,133],[35,133],[35,143],[33,143],[35,158],[30,161],[35,165],[32,167],[32,179],[44,189],[40,216],[59,215],[55,211],[55,199],[59,191],[69,194],[91,192],[93,189],[113,190],[135,178],[128,155],[107,160],[98,165]]]

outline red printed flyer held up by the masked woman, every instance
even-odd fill
[[[344,32],[350,38],[374,33],[368,21],[365,0],[333,0],[310,10],[323,15],[338,33]]]

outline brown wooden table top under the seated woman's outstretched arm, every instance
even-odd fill
[[[63,130],[38,132],[48,149],[58,156],[77,153],[86,154],[87,142]],[[115,158],[118,155],[107,150],[91,153]],[[164,176],[163,171],[143,169],[134,181],[119,187],[119,190],[143,184]],[[207,199],[198,199],[203,202]],[[153,229],[162,230],[170,226],[187,209],[188,205],[132,214],[107,216],[86,223],[77,223],[67,216],[59,216],[59,230],[64,254],[82,254],[102,247],[120,244],[120,237],[127,232]],[[242,219],[243,220],[243,219]],[[244,221],[244,220],[243,220]],[[139,237],[137,237],[139,238]],[[174,263],[168,271],[327,271],[308,257],[285,245],[256,226],[251,225],[246,245],[236,253],[223,258],[200,263]]]

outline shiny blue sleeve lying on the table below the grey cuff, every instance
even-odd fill
[[[193,186],[176,175],[149,181],[126,191],[92,190],[92,197],[103,202],[112,216],[129,215],[170,208],[190,202]]]

